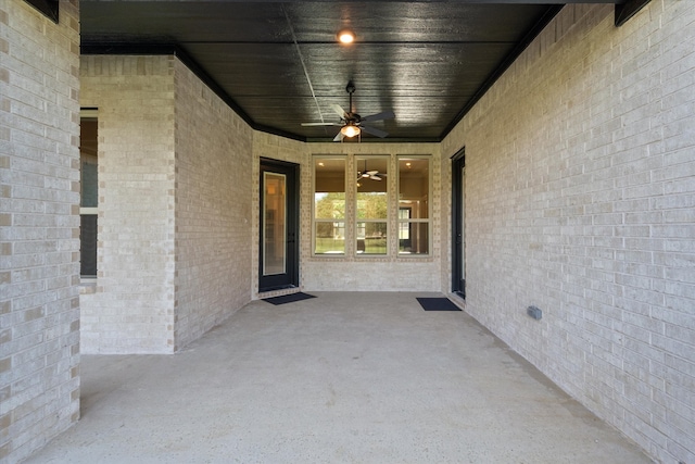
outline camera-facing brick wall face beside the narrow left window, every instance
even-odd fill
[[[174,351],[175,60],[81,58],[98,109],[96,288],[80,297],[85,353]]]

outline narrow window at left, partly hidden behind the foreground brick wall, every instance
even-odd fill
[[[83,277],[97,277],[97,206],[99,204],[97,126],[96,112],[83,111],[79,124],[79,273]]]

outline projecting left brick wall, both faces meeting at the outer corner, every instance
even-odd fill
[[[169,353],[250,300],[253,133],[174,57],[83,57],[99,114],[83,351]]]

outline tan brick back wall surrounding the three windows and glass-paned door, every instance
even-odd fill
[[[393,252],[384,258],[314,256],[312,250],[312,208],[314,154],[388,155],[395,172],[397,155],[429,155],[432,166],[432,230],[440,228],[441,173],[440,150],[437,143],[301,143],[268,134],[257,133],[254,142],[254,237],[258,235],[258,159],[260,156],[300,164],[300,286],[307,291],[440,291],[441,290],[441,236],[432,234],[432,250],[429,256],[403,258]],[[356,171],[355,171],[356,172]],[[389,191],[396,190],[396,176],[389,176]],[[390,210],[395,211],[396,198],[390,196]],[[390,230],[397,230],[396,217],[392,215]],[[395,240],[392,235],[392,240]],[[253,293],[258,291],[258,249],[254,238]],[[395,241],[391,249],[395,248]]]

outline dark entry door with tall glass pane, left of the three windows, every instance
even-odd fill
[[[299,165],[261,160],[258,291],[299,286]]]

